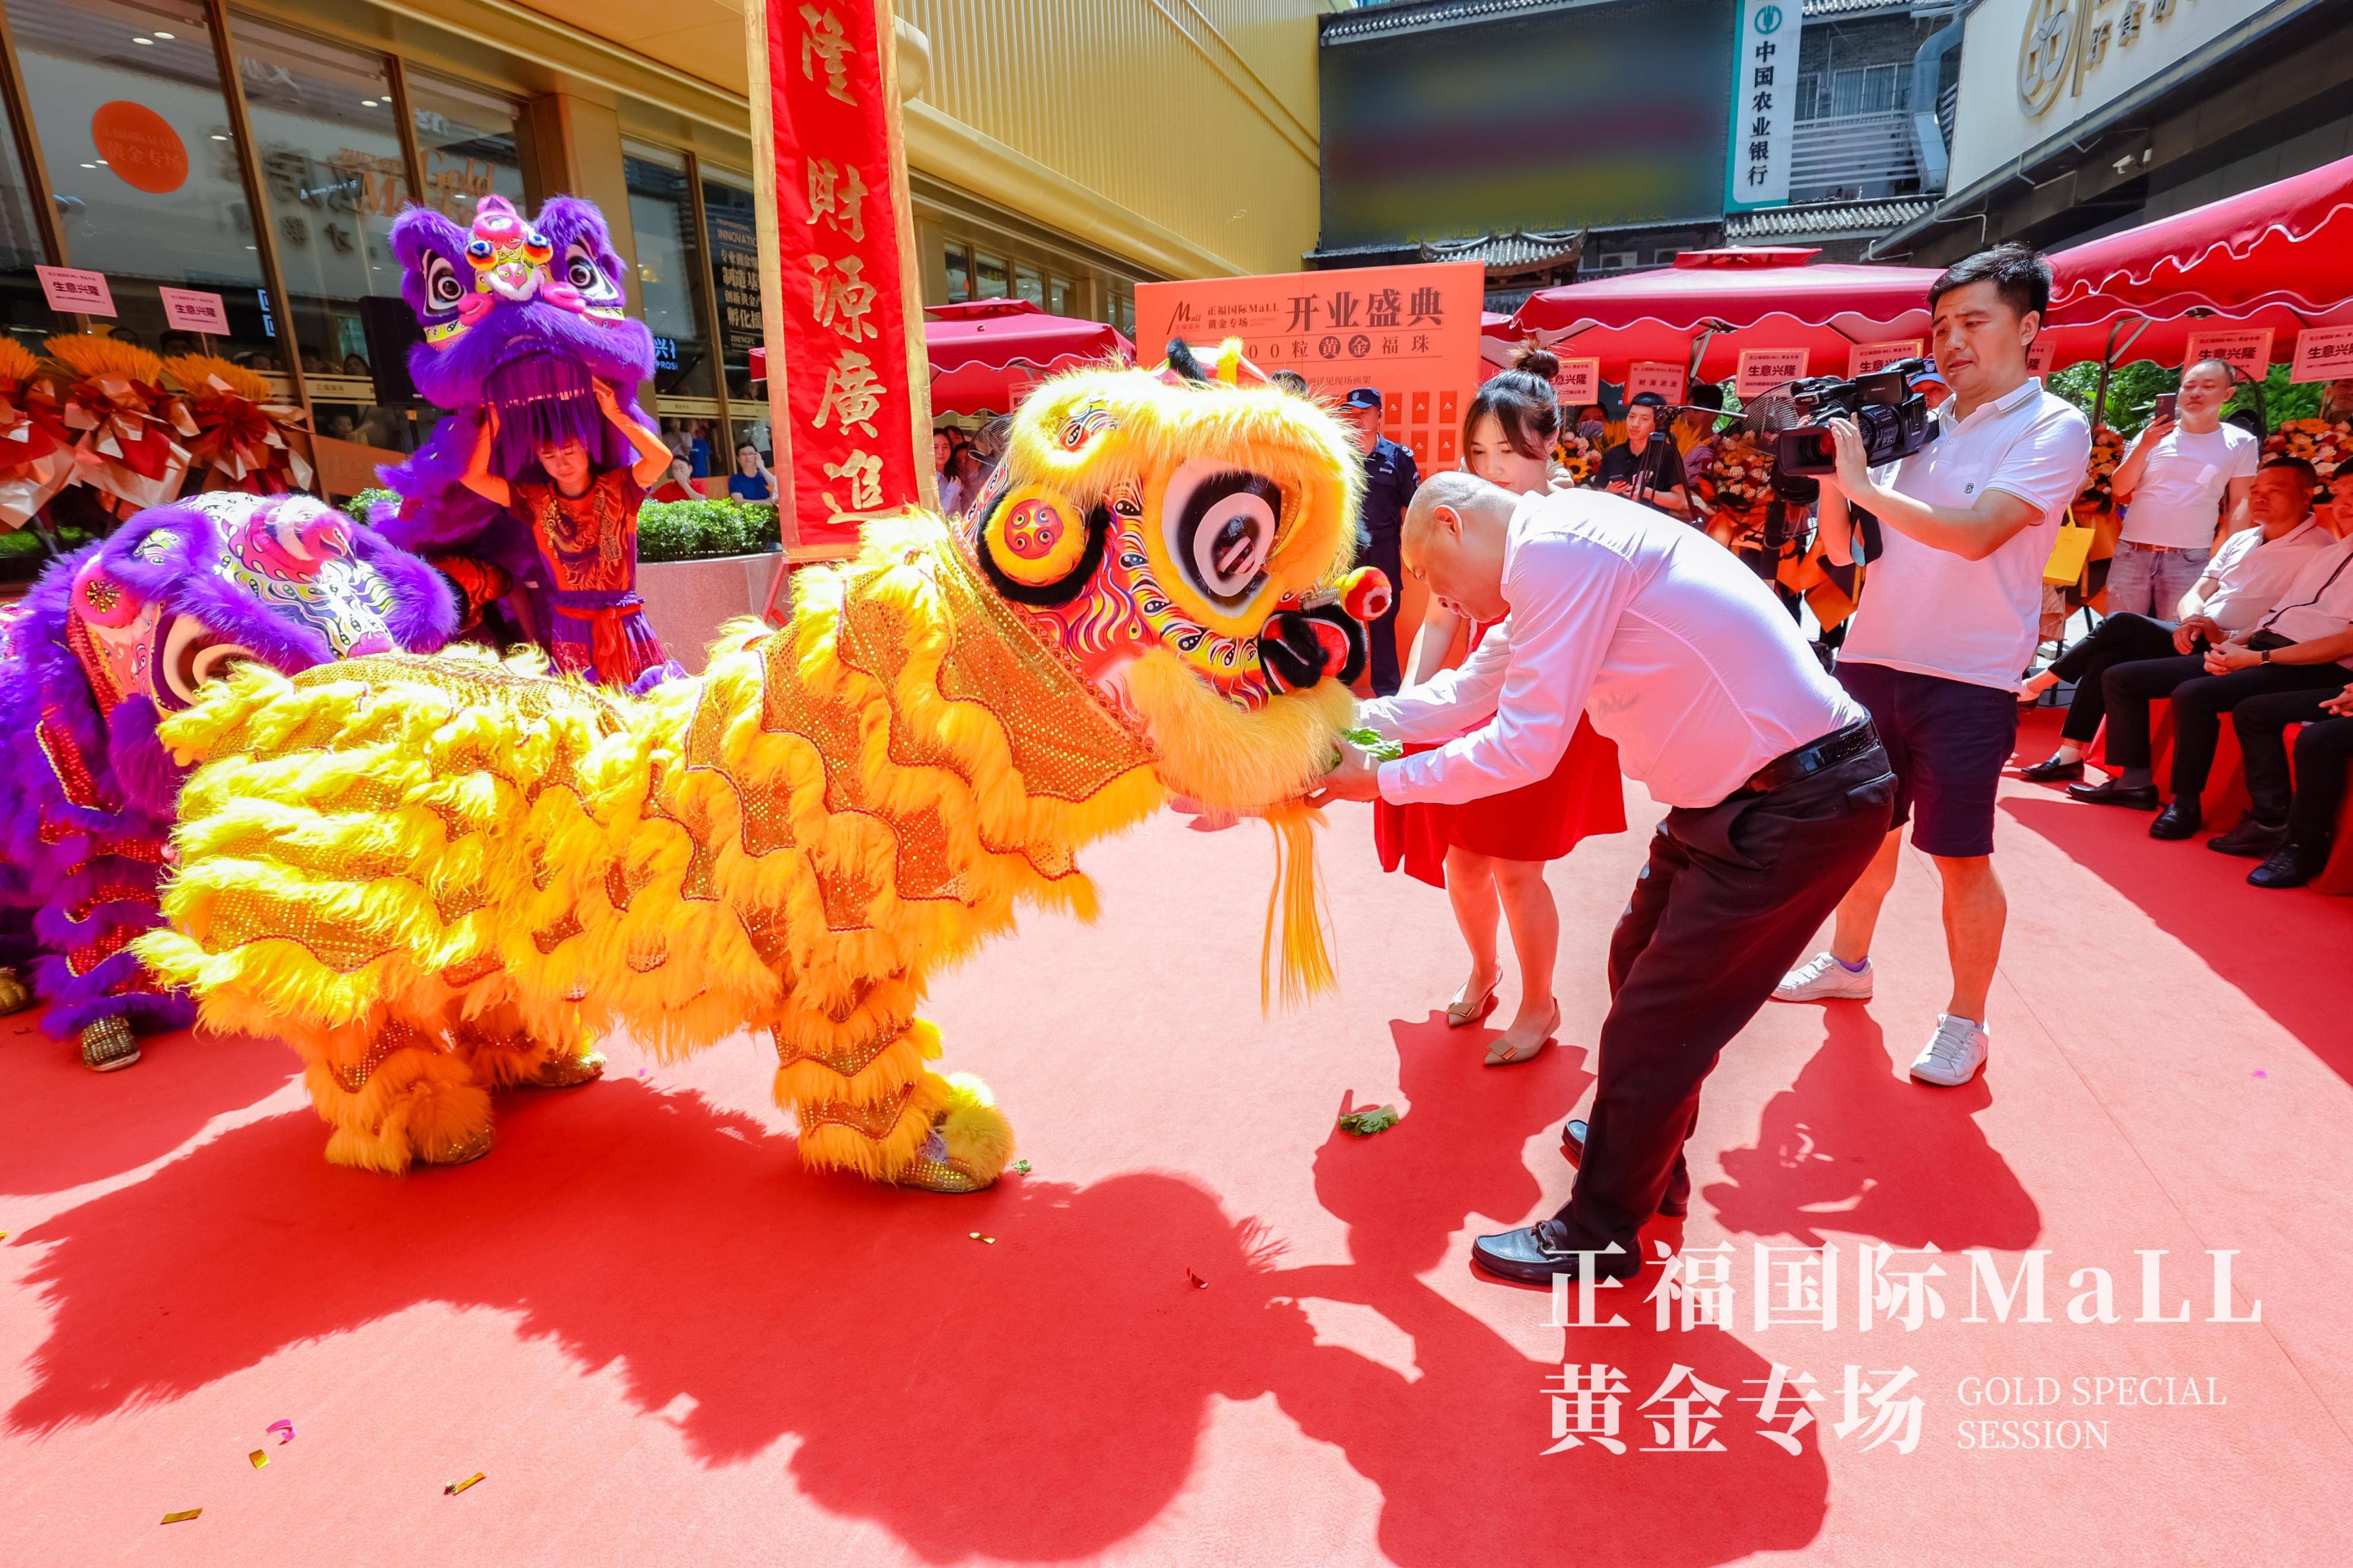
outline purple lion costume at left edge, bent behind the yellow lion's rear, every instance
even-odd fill
[[[155,724],[235,661],[428,654],[454,625],[440,574],[313,496],[191,496],[49,567],[0,623],[21,736],[0,759],[0,1011],[33,999],[28,966],[42,1027],[99,1072],[139,1060],[139,1030],[188,1027],[195,1004],[125,952],[162,924],[181,785]]]

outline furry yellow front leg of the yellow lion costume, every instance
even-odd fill
[[[892,978],[835,1009],[795,999],[776,1020],[776,1105],[800,1119],[800,1159],[929,1192],[979,1192],[1014,1150],[1012,1124],[972,1074],[932,1072],[939,1030]]]

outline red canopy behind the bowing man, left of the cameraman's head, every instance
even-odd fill
[[[1920,339],[1927,346],[1929,268],[1814,263],[1817,249],[1685,252],[1675,266],[1595,277],[1532,294],[1513,317],[1520,336],[1562,357],[1598,357],[1612,381],[1635,360],[1689,364],[1706,381],[1739,367],[1744,348],[1805,348],[1807,371],[1847,374],[1854,343]]]

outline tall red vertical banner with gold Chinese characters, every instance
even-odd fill
[[[767,395],[786,548],[932,496],[889,0],[751,0]],[[781,574],[779,574],[781,583]]]

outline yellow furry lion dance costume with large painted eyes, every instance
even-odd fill
[[[807,1164],[986,1187],[1012,1128],[915,1009],[1019,903],[1089,917],[1080,844],[1169,795],[1266,813],[1287,978],[1329,976],[1297,797],[1386,585],[1341,576],[1346,433],[1235,362],[1047,383],[965,522],[868,527],[642,698],[487,656],[235,672],[162,731],[202,766],[141,957],[301,1053],[336,1164],[473,1159],[492,1088],[586,1081],[614,1027],[758,1027]]]

